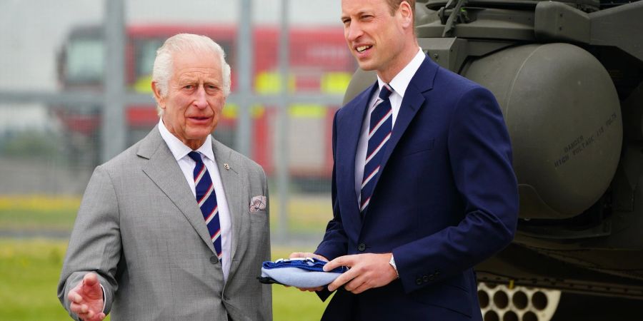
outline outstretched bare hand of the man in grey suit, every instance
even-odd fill
[[[81,282],[67,295],[71,302],[70,310],[84,321],[100,321],[103,312],[103,290],[96,273],[87,273]]]

